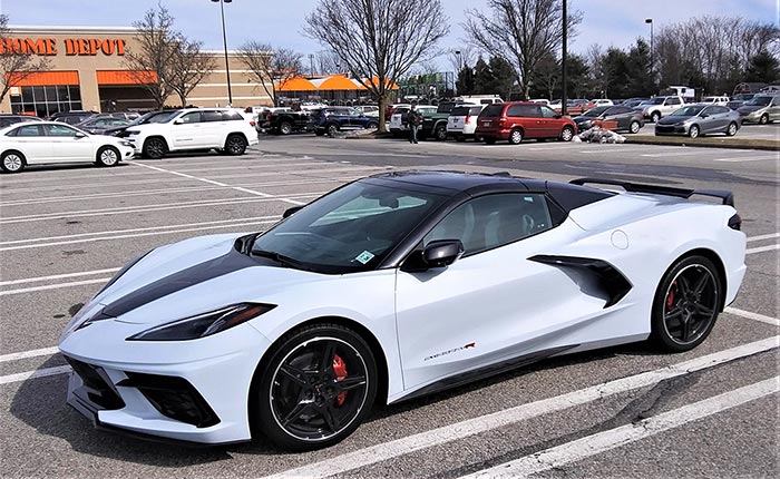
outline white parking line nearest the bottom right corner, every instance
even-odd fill
[[[660,432],[679,428],[689,422],[704,419],[738,405],[761,399],[780,391],[780,377],[757,382],[733,391],[683,405],[667,412],[621,426],[608,431],[586,436],[542,452],[481,470],[461,479],[477,478],[525,478],[549,469],[559,468],[592,456],[620,448]]]

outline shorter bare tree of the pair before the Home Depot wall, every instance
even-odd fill
[[[170,55],[167,84],[178,95],[182,107],[187,106],[187,95],[214,71],[214,58],[201,51],[199,41],[179,36]]]

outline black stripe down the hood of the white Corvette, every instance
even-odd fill
[[[108,304],[103,309],[101,313],[111,317],[118,317],[136,307],[167,296],[168,294],[176,293],[189,286],[203,283],[204,281],[213,280],[217,276],[233,273],[234,271],[256,266],[257,264],[259,263],[250,256],[231,248],[228,253],[215,257],[214,260],[196,264],[142,286]]]

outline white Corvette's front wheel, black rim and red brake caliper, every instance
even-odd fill
[[[250,416],[254,430],[276,446],[296,451],[333,446],[371,411],[377,363],[354,331],[338,324],[304,326],[281,338],[267,354],[255,373]]]

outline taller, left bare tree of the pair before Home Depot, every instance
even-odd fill
[[[174,18],[162,4],[157,10],[149,9],[144,19],[133,23],[136,29],[137,49],[125,53],[125,68],[130,76],[146,88],[157,108],[174,92],[168,84],[168,71],[176,53],[177,32],[173,29]]]

